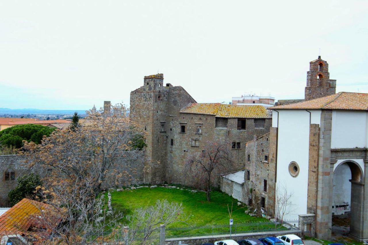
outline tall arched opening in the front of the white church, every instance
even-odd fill
[[[350,213],[350,234],[361,237],[364,212],[364,174],[359,164],[346,160],[333,171],[332,215]]]

